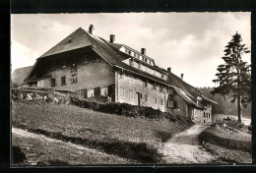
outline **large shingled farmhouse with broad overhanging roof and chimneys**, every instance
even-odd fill
[[[158,67],[146,54],[77,29],[36,59],[24,80],[29,87],[79,91],[81,97],[107,95],[114,102],[177,112],[194,121],[212,121],[213,100],[181,77]]]

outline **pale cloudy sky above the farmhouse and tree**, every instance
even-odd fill
[[[194,87],[214,87],[217,67],[224,64],[224,46],[237,31],[251,49],[248,12],[240,13],[96,13],[12,14],[11,63],[17,68],[32,66],[40,55],[70,33],[88,30],[126,44],[155,59],[161,68],[171,68]],[[251,54],[242,58],[251,63]]]

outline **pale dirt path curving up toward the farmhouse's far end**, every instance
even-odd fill
[[[159,152],[165,163],[205,164],[215,160],[215,156],[205,151],[199,144],[198,135],[207,128],[206,124],[196,124],[174,136],[167,143],[160,144]]]

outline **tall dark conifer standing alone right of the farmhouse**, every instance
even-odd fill
[[[226,98],[231,97],[231,102],[237,99],[238,122],[241,122],[242,104],[246,106],[251,102],[251,65],[242,61],[242,55],[249,53],[248,47],[242,44],[241,35],[236,33],[227,43],[224,49],[224,64],[219,65],[216,74],[217,80],[214,83],[213,95],[220,94]]]

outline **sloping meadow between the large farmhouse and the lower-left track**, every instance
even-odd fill
[[[141,163],[160,162],[158,144],[188,128],[167,120],[135,119],[73,105],[13,101],[12,111],[14,127]]]

